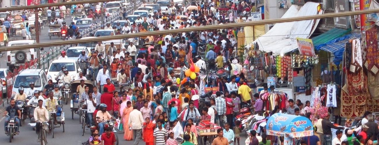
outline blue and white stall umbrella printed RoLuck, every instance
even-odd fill
[[[283,136],[284,145],[292,145],[295,137],[313,136],[313,125],[303,116],[275,113],[267,121],[266,133]]]

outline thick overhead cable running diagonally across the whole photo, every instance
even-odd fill
[[[119,34],[119,35],[112,35],[112,36],[96,37],[96,38],[85,39],[85,40],[83,39],[66,40],[66,41],[60,40],[60,41],[46,42],[46,43],[35,43],[31,45],[6,46],[6,47],[0,48],[0,51],[41,48],[41,47],[59,46],[59,45],[71,45],[71,44],[78,44],[78,43],[99,42],[99,41],[107,41],[107,40],[144,37],[144,36],[151,36],[151,35],[177,34],[181,32],[204,31],[204,30],[215,30],[215,29],[226,29],[226,28],[240,28],[244,26],[254,26],[254,25],[283,23],[283,22],[296,22],[296,21],[302,21],[302,20],[324,19],[324,18],[332,18],[332,17],[346,17],[346,16],[360,15],[360,14],[371,14],[371,13],[376,13],[376,12],[379,12],[379,9],[367,9],[367,10],[362,10],[362,11],[348,11],[348,12],[328,13],[328,14],[320,14],[320,15],[309,15],[309,16],[302,16],[302,17],[281,18],[281,19],[268,19],[268,20],[252,21],[252,22],[227,23],[227,24],[222,24],[222,25],[207,25],[207,26],[198,26],[198,27],[191,27],[191,28],[171,29],[171,30],[164,30],[164,31],[138,32],[138,33],[133,33],[133,34]]]

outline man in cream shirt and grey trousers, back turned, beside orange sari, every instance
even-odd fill
[[[133,139],[134,139],[133,145],[138,145],[139,140],[141,140],[142,125],[144,123],[142,113],[141,111],[137,110],[137,108],[138,108],[137,105],[133,106],[133,111],[130,112],[129,120],[128,120],[128,125],[130,127],[128,129],[133,130]]]

